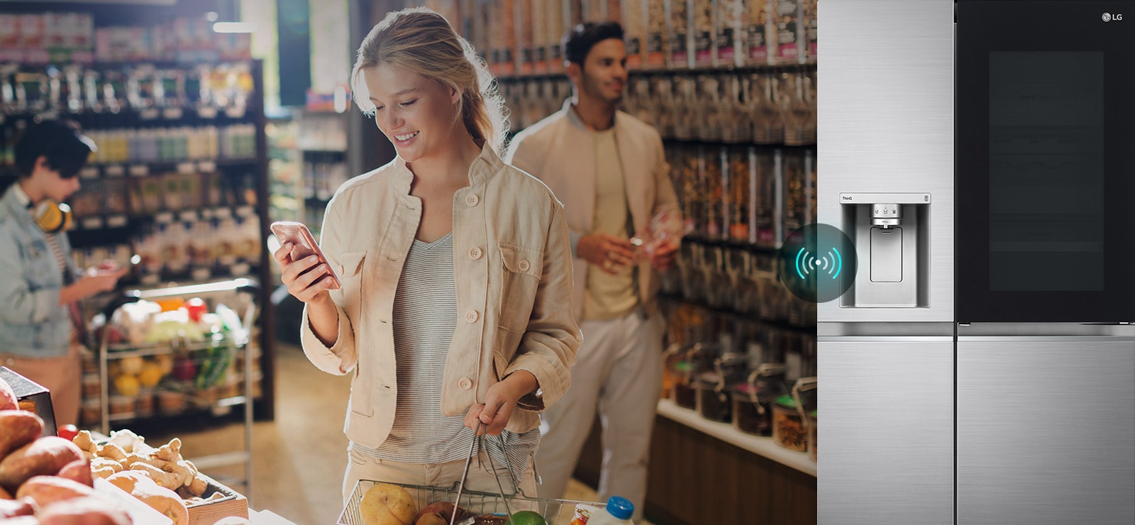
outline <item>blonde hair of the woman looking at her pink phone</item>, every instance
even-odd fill
[[[496,78],[473,45],[461,38],[437,13],[415,7],[386,15],[359,45],[351,86],[367,116],[375,115],[360,73],[379,64],[398,66],[460,90],[457,115],[473,140],[484,140],[499,155],[508,133],[507,108],[497,92]],[[361,89],[360,89],[361,88]]]

